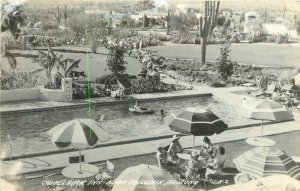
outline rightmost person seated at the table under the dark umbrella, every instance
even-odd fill
[[[219,148],[219,154],[215,157],[211,155],[211,159],[207,164],[205,178],[208,180],[211,175],[220,174],[225,163],[225,148]]]

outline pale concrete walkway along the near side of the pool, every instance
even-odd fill
[[[264,136],[283,134],[287,132],[299,131],[299,121],[289,121],[284,123],[270,124],[264,126]],[[219,135],[210,136],[213,144],[221,144],[230,141],[244,140],[255,137],[260,132],[260,126],[253,126],[242,129],[232,129],[225,131]],[[232,136],[232,135],[235,136]],[[202,144],[203,136],[196,137],[195,146]],[[190,148],[192,145],[192,137],[184,136],[180,139],[184,148]],[[123,145],[112,145],[107,147],[93,148],[82,151],[85,160],[88,163],[97,163],[105,160],[120,159],[125,157],[133,157],[138,155],[150,154],[156,151],[158,144],[167,145],[170,138],[159,140],[149,140],[138,143],[128,143]],[[70,155],[78,155],[78,151],[44,155],[39,157],[30,157],[17,159],[12,161],[0,161],[0,176],[10,176],[16,174],[26,174],[35,172],[45,172],[45,170],[60,169],[67,166],[68,157]]]

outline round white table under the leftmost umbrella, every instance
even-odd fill
[[[91,164],[81,164],[81,172],[79,163],[71,164],[62,170],[62,175],[67,178],[89,178],[95,176],[99,172],[99,168]]]

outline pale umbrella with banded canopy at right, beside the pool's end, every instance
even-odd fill
[[[264,120],[283,121],[293,117],[283,105],[272,100],[250,99],[243,104],[243,108],[247,118],[261,120],[261,139]]]

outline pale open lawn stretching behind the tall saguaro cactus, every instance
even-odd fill
[[[208,45],[206,59],[215,60],[219,56],[220,45]],[[201,45],[156,46],[147,49],[167,58],[200,59]],[[277,44],[232,44],[230,57],[232,61],[244,64],[295,67],[299,66],[300,47]]]

